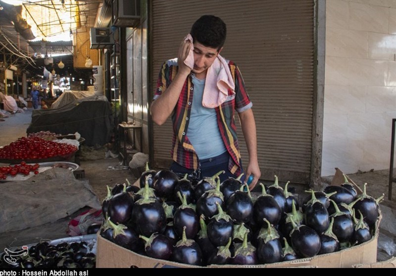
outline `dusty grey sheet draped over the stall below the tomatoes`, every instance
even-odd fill
[[[51,168],[24,181],[1,183],[0,233],[54,222],[88,206],[100,209],[88,180]]]

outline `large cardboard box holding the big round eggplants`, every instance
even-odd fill
[[[348,181],[357,185],[351,180]],[[333,183],[334,182],[334,183]],[[333,178],[332,185],[341,185],[344,183],[343,172],[336,168],[336,174]],[[360,190],[360,189],[359,189]],[[360,190],[361,191],[361,190]],[[358,192],[359,193],[359,192]],[[376,231],[371,240],[360,245],[323,255],[317,255],[312,258],[302,258],[294,261],[280,262],[274,264],[256,265],[256,266],[237,266],[238,268],[353,268],[356,265],[374,264],[377,261],[377,243],[379,234],[380,219],[376,223]],[[205,268],[191,266],[171,261],[149,258],[132,252],[126,248],[118,246],[98,233],[97,241],[97,268]],[[232,268],[236,266],[211,265],[206,268]]]

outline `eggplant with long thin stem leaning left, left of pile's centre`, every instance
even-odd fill
[[[187,204],[186,195],[178,192],[179,198],[181,198],[182,205],[176,210],[173,216],[173,227],[179,237],[182,236],[183,232],[186,232],[188,239],[194,239],[199,231],[199,219],[195,212],[195,206],[193,204]]]

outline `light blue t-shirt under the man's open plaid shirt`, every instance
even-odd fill
[[[227,151],[217,124],[216,110],[202,106],[205,79],[193,75],[194,97],[187,137],[197,152],[198,159],[219,156]]]

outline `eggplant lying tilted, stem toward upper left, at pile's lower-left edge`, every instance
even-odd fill
[[[135,252],[143,248],[143,242],[139,239],[138,234],[132,227],[124,224],[115,224],[111,221],[110,217],[107,219],[107,222],[113,229],[112,235],[115,244]]]

